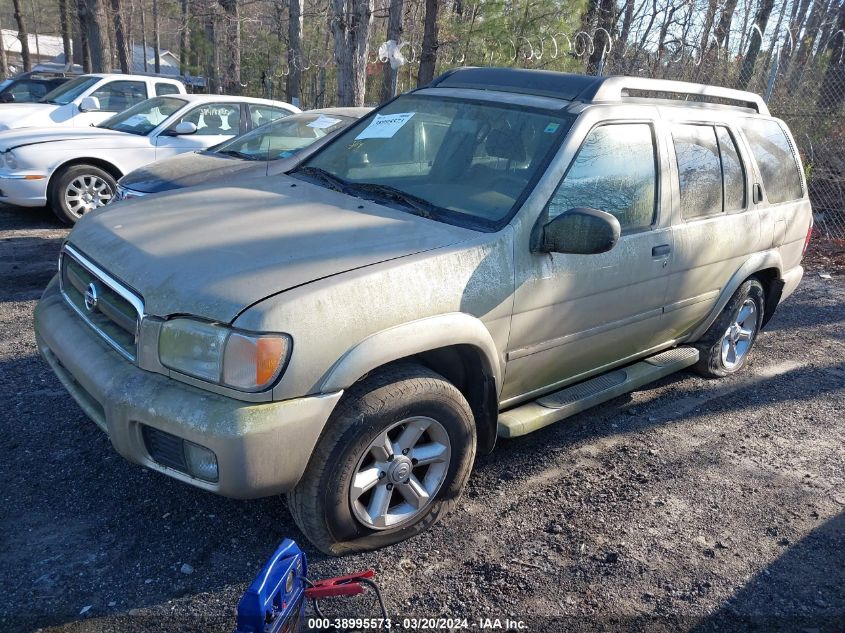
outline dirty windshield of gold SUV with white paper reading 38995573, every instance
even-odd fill
[[[489,101],[401,96],[292,175],[453,224],[507,222],[570,121]]]

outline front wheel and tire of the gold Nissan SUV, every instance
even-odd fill
[[[420,429],[412,443],[408,438]],[[385,459],[387,449],[379,446],[386,432],[390,451],[404,445],[411,447],[407,454],[397,450]],[[326,554],[392,545],[424,532],[457,504],[475,449],[472,412],[454,385],[421,365],[389,366],[344,395],[288,505],[303,534]],[[431,459],[441,461],[421,463]],[[353,481],[366,485],[353,489]],[[388,511],[370,512],[378,507]]]

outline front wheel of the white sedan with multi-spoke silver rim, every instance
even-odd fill
[[[50,188],[50,208],[68,225],[109,204],[117,194],[114,177],[94,165],[71,165],[62,169],[55,178]]]

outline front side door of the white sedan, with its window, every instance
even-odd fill
[[[193,134],[172,135],[172,130],[187,121],[197,126]],[[185,152],[207,149],[241,133],[239,103],[203,103],[173,121],[156,138],[156,160]]]

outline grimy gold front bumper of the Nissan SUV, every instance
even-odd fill
[[[56,279],[35,309],[35,334],[41,355],[118,453],[227,497],[264,497],[293,488],[342,395],[254,404],[139,369],[71,311]],[[218,481],[153,460],[144,425],[212,450]]]

